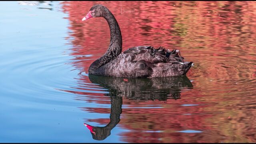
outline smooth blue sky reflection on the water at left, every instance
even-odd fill
[[[101,142],[86,131],[84,118],[109,114],[82,111],[96,104],[57,90],[76,85],[79,70],[66,65],[72,59],[67,14],[58,11],[60,2],[50,3],[52,10],[0,2],[0,142]],[[119,142],[119,132],[104,142]]]

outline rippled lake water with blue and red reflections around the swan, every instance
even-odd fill
[[[110,42],[94,4],[123,51],[179,49],[187,76],[88,76]],[[0,142],[256,142],[254,1],[0,2],[0,32]]]

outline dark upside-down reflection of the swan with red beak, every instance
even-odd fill
[[[90,130],[94,140],[104,140],[110,136],[111,130],[120,122],[122,113],[122,98],[129,100],[160,100],[179,99],[181,89],[193,88],[186,76],[163,78],[113,78],[89,74],[89,79],[94,84],[107,88],[110,97],[111,112],[110,122],[103,127],[84,125]]]

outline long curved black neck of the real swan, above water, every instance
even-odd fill
[[[116,18],[107,8],[102,17],[107,20],[110,28],[110,45],[106,53],[90,65],[89,74],[94,74],[100,66],[114,60],[122,52],[122,35]]]

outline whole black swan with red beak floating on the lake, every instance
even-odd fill
[[[116,18],[100,4],[92,6],[82,21],[92,17],[103,17],[110,27],[110,45],[106,53],[95,60],[89,67],[89,74],[153,78],[184,76],[193,62],[184,62],[179,50],[136,46],[122,52],[122,35]],[[122,52],[122,53],[121,53]]]

